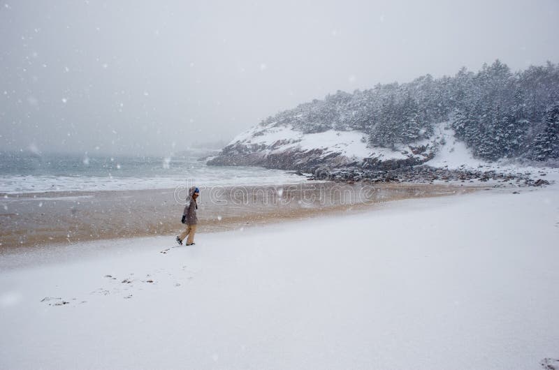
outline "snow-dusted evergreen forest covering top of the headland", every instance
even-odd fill
[[[337,91],[298,105],[263,124],[292,124],[305,133],[360,130],[373,145],[395,148],[433,134],[448,121],[474,155],[488,160],[559,158],[559,66],[512,73],[497,60],[473,73],[425,75],[406,84]]]

